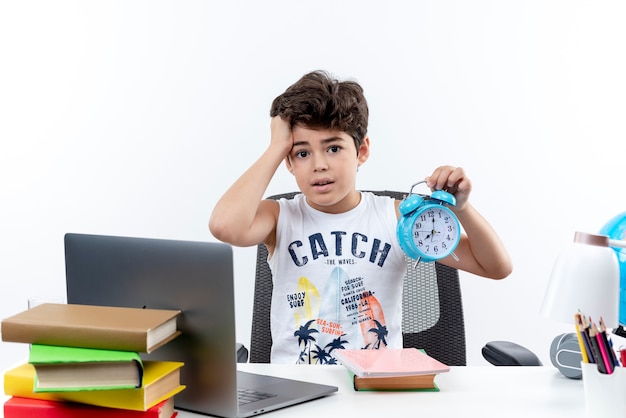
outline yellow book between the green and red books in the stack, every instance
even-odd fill
[[[25,363],[4,374],[4,393],[31,399],[72,401],[109,408],[145,411],[185,389],[180,384],[181,362],[144,361],[141,388],[85,390],[77,392],[35,392],[35,368]]]

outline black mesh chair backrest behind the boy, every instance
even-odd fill
[[[402,192],[387,190],[372,193],[395,199],[406,196]],[[279,194],[269,199],[291,199],[296,194]],[[270,362],[273,285],[267,255],[265,245],[258,245],[250,338],[251,363]],[[406,257],[406,262],[402,295],[404,346],[424,349],[430,356],[449,366],[465,366],[465,322],[458,271],[436,262],[415,265],[415,260],[409,257]]]

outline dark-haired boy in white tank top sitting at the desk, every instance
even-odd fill
[[[356,189],[370,153],[362,87],[314,71],[274,99],[270,116],[269,146],[219,200],[209,228],[235,246],[267,246],[271,361],[332,364],[336,349],[402,347],[399,201]],[[283,163],[302,193],[263,199]],[[465,171],[441,166],[426,180],[432,190],[455,195],[463,228],[458,260],[441,263],[492,279],[508,276],[508,252],[469,202]]]

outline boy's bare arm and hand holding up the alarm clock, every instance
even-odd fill
[[[464,230],[454,253],[442,264],[468,271],[490,279],[503,279],[511,274],[512,263],[509,253],[489,222],[469,203],[472,184],[465,170],[450,166],[437,168],[427,178],[433,190],[447,190],[456,197],[457,204],[451,207]]]

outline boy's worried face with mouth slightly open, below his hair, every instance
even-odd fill
[[[285,163],[309,205],[322,212],[343,213],[360,201],[356,173],[368,156],[368,137],[357,150],[345,132],[294,126],[293,148]]]

